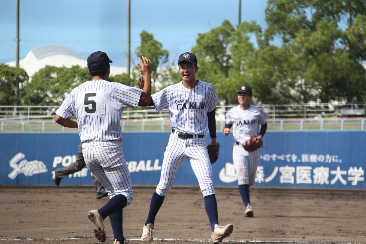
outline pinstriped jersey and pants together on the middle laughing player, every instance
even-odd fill
[[[198,81],[193,89],[183,86],[183,82],[171,85],[153,94],[157,111],[169,109],[170,124],[175,130],[169,137],[164,153],[163,165],[156,193],[165,196],[173,185],[175,174],[187,158],[198,179],[203,196],[215,194],[212,181],[212,166],[206,149],[207,113],[216,108],[219,96],[210,83]],[[193,135],[192,138],[179,138],[179,132]]]

